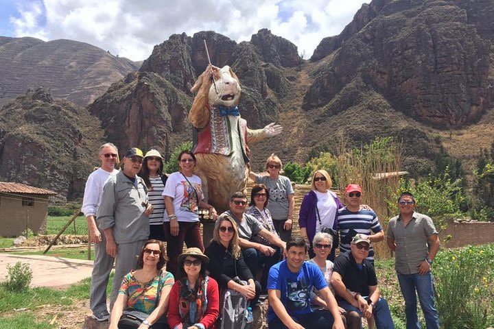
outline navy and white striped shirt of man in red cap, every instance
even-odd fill
[[[351,239],[355,234],[371,235],[373,232],[381,232],[382,227],[375,212],[365,209],[353,212],[345,207],[338,210],[338,230],[340,231],[340,252],[349,252]],[[367,259],[374,260],[372,243]]]

